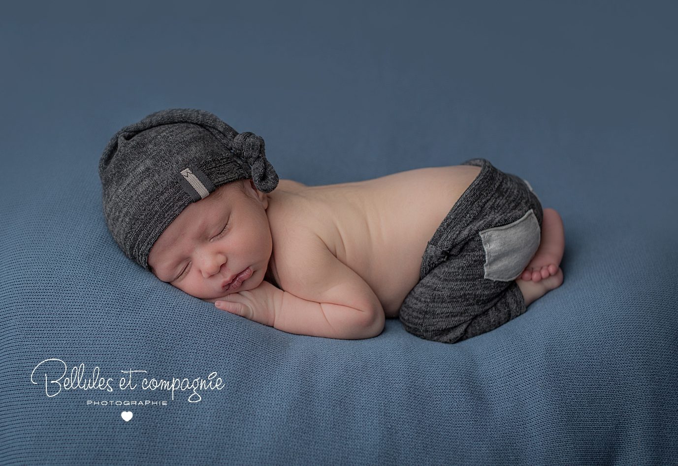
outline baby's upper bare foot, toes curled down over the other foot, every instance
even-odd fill
[[[557,274],[564,250],[565,229],[563,228],[563,220],[555,209],[544,209],[539,249],[518,278],[539,282]]]

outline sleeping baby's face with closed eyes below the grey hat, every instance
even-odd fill
[[[219,186],[191,203],[165,229],[148,254],[148,265],[163,282],[200,299],[254,289],[264,280],[273,240],[268,196],[252,180]],[[226,291],[231,276],[251,268],[252,276]]]

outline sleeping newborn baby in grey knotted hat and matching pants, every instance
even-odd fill
[[[563,224],[484,158],[362,182],[278,179],[264,141],[214,114],[161,110],[102,154],[104,216],[159,280],[276,329],[361,339],[399,318],[455,343],[563,282]]]

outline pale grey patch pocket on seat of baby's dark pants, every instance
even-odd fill
[[[500,282],[515,280],[539,248],[541,228],[534,211],[510,224],[479,232],[485,249],[485,278]]]

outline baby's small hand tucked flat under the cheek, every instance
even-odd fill
[[[264,280],[254,289],[231,293],[209,301],[215,301],[214,305],[219,309],[272,327],[275,321],[277,293],[282,293],[282,290]]]

